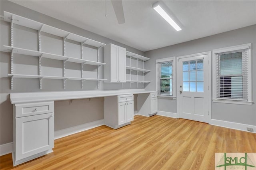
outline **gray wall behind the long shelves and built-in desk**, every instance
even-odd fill
[[[50,16],[40,14],[36,11],[19,6],[9,1],[0,1],[1,15],[4,11],[11,12],[74,34],[78,34],[92,40],[102,43],[114,43],[125,47],[127,51],[144,55],[144,52],[134,49],[127,45],[115,42],[108,38],[88,32],[68,23],[56,20]],[[10,45],[10,23],[1,19],[1,47]],[[14,46],[38,50],[38,32],[30,28],[14,24]],[[42,51],[62,55],[62,38],[42,32]],[[96,61],[96,49],[93,47],[84,47],[84,59]],[[39,89],[38,79],[14,79],[14,89],[10,90],[10,53],[0,53],[0,144],[12,142],[12,105],[10,103],[10,93],[38,92],[38,91],[81,91],[96,90],[96,81],[85,81],[84,89],[81,89],[81,82],[68,80],[66,89],[63,89],[62,80],[43,79],[42,89]],[[66,55],[71,57],[80,57],[80,44],[70,40],[66,43]],[[90,57],[92,56],[92,57]],[[103,50],[100,51],[100,62],[103,62]],[[132,61],[134,65],[134,61]],[[62,76],[63,63],[60,60],[42,58],[42,75]],[[80,77],[80,64],[66,63],[66,76]],[[84,77],[96,78],[96,66],[84,65]],[[100,70],[100,78],[103,78],[103,69]],[[14,54],[14,73],[16,74],[34,74],[38,75],[38,57]],[[132,88],[137,88],[132,84]],[[142,88],[139,84],[138,88]],[[120,83],[100,83],[100,89],[122,89]],[[129,83],[124,83],[123,89],[130,89]],[[91,100],[73,100],[58,101],[54,103],[55,130],[81,125],[84,123],[103,119],[103,101],[104,98],[94,98]],[[136,108],[134,108],[136,109]]]

